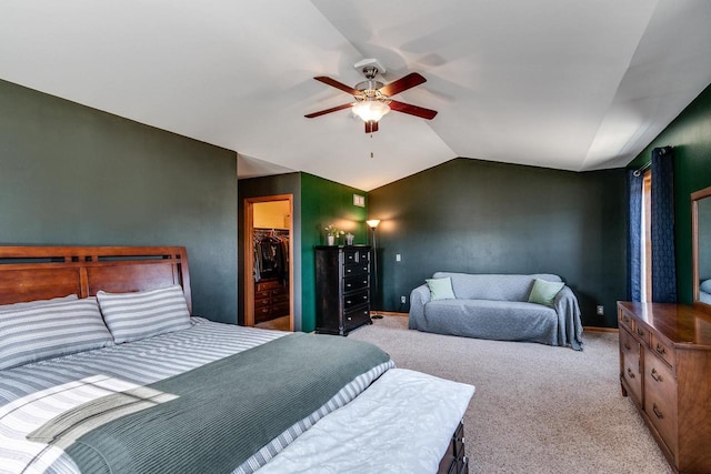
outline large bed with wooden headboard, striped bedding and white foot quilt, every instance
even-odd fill
[[[473,391],[192,316],[181,246],[0,246],[0,472],[468,472]]]

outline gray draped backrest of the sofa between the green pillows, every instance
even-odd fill
[[[452,279],[452,290],[457,299],[461,300],[494,300],[528,302],[533,288],[533,280],[541,279],[560,282],[558,275],[538,273],[532,275],[504,274],[469,274],[437,272],[433,278]]]

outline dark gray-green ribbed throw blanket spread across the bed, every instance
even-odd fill
[[[136,391],[87,403],[28,436],[86,473],[232,472],[390,356],[296,333]]]

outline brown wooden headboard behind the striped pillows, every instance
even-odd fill
[[[176,283],[192,314],[184,246],[0,246],[0,304]]]

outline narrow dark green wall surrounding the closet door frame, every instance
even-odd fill
[[[244,199],[262,198],[268,195],[291,194],[293,196],[293,229],[291,232],[293,245],[293,274],[294,281],[291,282],[293,288],[293,324],[296,331],[301,331],[301,261],[302,256],[299,252],[301,248],[301,177],[300,173],[277,174],[263,178],[250,178],[240,180],[239,184],[239,300],[244,301]],[[251,282],[252,280],[250,280]],[[244,305],[239,305],[239,321],[244,324]]]

